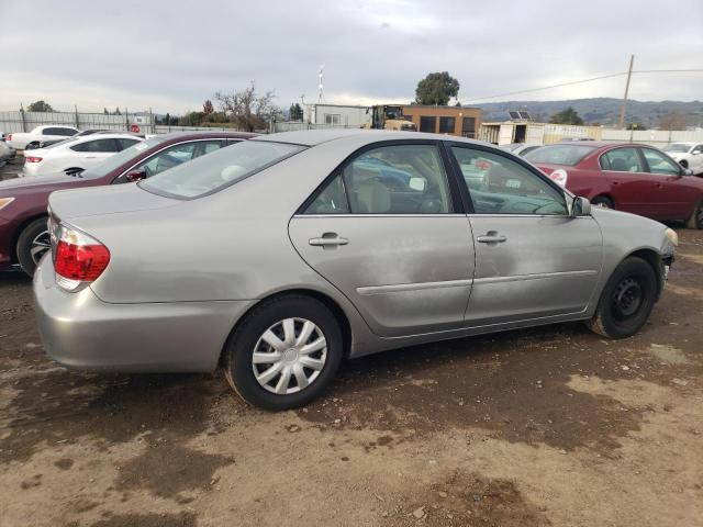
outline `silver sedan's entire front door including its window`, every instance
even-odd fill
[[[507,154],[459,144],[450,152],[473,209],[476,270],[465,325],[584,311],[601,269],[598,223],[571,217],[563,190]]]

